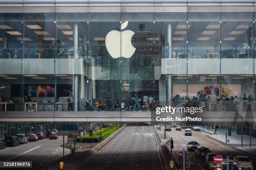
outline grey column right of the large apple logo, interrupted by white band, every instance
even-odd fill
[[[172,58],[172,24],[167,24],[167,43],[169,44],[169,58]],[[172,106],[172,76],[166,75],[166,105]]]

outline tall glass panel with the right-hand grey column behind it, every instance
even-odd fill
[[[156,105],[180,106],[187,96],[186,21],[186,13],[155,14]]]

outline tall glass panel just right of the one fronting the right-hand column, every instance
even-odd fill
[[[188,97],[192,107],[217,111],[220,13],[188,13]]]

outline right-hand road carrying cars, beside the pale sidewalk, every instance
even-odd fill
[[[172,128],[172,131],[168,131],[167,137],[174,140],[174,149],[172,150],[173,155],[175,156],[176,162],[178,163],[178,153],[179,151],[182,151],[183,148],[187,149],[187,143],[190,140],[197,141],[200,146],[205,146],[211,150],[212,153],[219,153],[223,156],[223,159],[226,159],[227,156],[229,156],[229,159],[232,159],[236,155],[245,155],[244,153],[240,153],[237,150],[234,150],[233,148],[230,148],[226,145],[223,145],[222,143],[219,143],[215,140],[212,140],[208,138],[206,135],[209,135],[207,133],[204,133],[202,131],[193,131],[192,130],[192,136],[185,136],[184,135],[184,129],[181,131],[175,130],[175,128]],[[250,157],[251,158],[251,157]],[[253,160],[253,167],[256,167],[256,159],[251,158]],[[182,170],[182,164],[178,164],[177,168]],[[205,168],[205,158],[196,158],[194,151],[187,151],[187,165],[186,170],[206,170]]]

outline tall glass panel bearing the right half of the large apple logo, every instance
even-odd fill
[[[123,13],[122,22],[128,22],[121,34],[123,110],[148,111],[154,99],[154,56],[160,52],[154,42],[161,42],[154,13]]]

